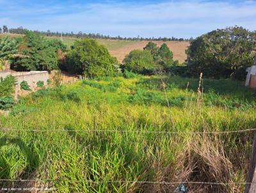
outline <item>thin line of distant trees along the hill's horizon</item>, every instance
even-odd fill
[[[25,29],[23,27],[17,27],[17,28],[10,28],[9,32],[10,33],[15,33],[15,34],[21,34],[24,35],[26,33],[26,31],[28,31],[28,29]],[[166,38],[166,37],[151,37],[151,38],[143,38],[140,36],[137,37],[121,37],[121,36],[106,36],[106,35],[101,35],[99,33],[95,34],[95,33],[83,33],[82,31],[79,31],[79,33],[62,33],[62,32],[53,32],[50,30],[47,31],[34,31],[36,33],[40,33],[41,35],[44,36],[56,36],[56,37],[69,37],[69,38],[97,38],[97,39],[106,39],[106,40],[132,40],[132,41],[191,41],[193,40],[193,38],[175,38],[175,37],[171,37],[171,38]]]

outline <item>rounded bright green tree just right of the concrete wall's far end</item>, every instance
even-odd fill
[[[67,54],[67,70],[84,74],[88,77],[111,76],[116,72],[118,64],[108,49],[99,45],[96,40],[82,39],[74,43],[74,47]]]

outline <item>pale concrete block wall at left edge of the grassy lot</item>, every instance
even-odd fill
[[[17,89],[20,89],[20,82],[27,81],[31,89],[36,88],[36,82],[44,81],[47,84],[47,79],[49,79],[49,73],[47,71],[30,71],[30,72],[15,72],[12,70],[4,70],[0,72],[0,77],[3,79],[8,76],[13,75],[17,81]]]

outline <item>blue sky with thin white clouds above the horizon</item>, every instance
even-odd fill
[[[110,36],[196,37],[217,28],[256,30],[256,1],[0,0],[0,26]]]

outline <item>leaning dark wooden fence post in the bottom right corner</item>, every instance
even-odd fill
[[[253,193],[256,192],[256,132],[253,137],[253,144],[252,144],[252,156],[250,161],[250,167],[248,171],[248,176],[246,180],[246,186],[244,193]]]

